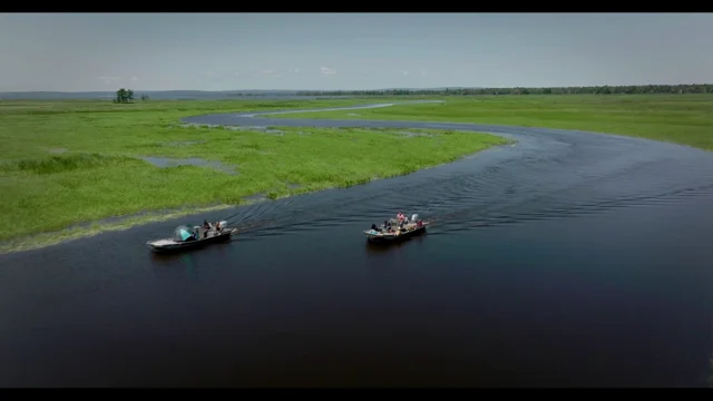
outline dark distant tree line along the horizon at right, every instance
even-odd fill
[[[299,96],[477,96],[477,95],[646,95],[646,94],[713,94],[713,84],[628,85],[555,88],[445,88],[384,90],[304,90]]]

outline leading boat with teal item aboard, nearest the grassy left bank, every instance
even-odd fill
[[[172,238],[163,238],[146,242],[146,245],[154,252],[166,253],[203,247],[205,245],[226,242],[237,228],[226,227],[227,222],[219,222],[221,229],[216,231],[211,226],[207,232],[202,226],[180,225],[174,229]]]

